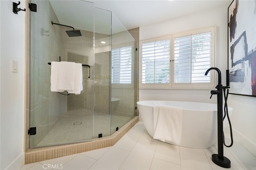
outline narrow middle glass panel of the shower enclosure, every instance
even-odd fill
[[[110,136],[111,12],[94,9],[94,138]]]

